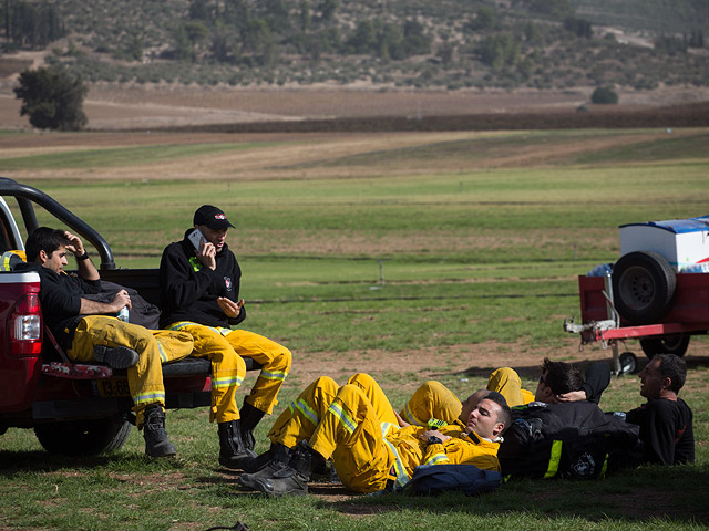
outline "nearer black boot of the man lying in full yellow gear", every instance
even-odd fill
[[[307,494],[312,470],[325,464],[325,458],[315,451],[307,440],[301,440],[294,449],[290,461],[270,478],[254,481],[256,490],[269,497],[285,494]]]

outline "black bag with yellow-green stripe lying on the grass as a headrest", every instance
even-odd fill
[[[638,426],[590,402],[532,403],[513,418],[497,451],[505,479],[595,479],[640,462]]]

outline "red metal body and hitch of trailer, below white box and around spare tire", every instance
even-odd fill
[[[658,323],[633,325],[615,310],[610,273],[605,277],[579,275],[582,324],[568,319],[564,321],[564,330],[579,333],[582,345],[599,341],[603,348],[613,348],[616,374],[633,372],[635,355],[624,353],[619,356],[618,342],[703,334],[709,330],[709,273],[677,273],[676,277],[677,289],[669,313]]]

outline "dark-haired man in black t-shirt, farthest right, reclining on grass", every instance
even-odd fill
[[[627,413],[628,423],[640,426],[647,462],[678,465],[695,461],[692,413],[677,396],[685,385],[687,364],[674,354],[658,354],[640,372],[643,406]]]

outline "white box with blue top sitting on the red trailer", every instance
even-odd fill
[[[709,216],[621,225],[620,254],[654,251],[676,271],[709,263]]]

